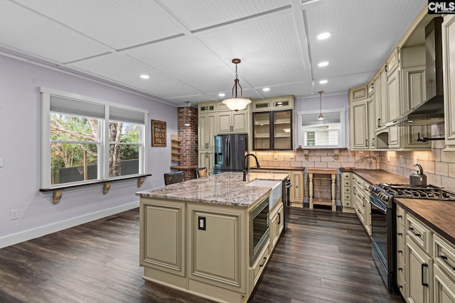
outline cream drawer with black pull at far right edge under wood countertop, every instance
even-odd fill
[[[455,248],[438,234],[435,233],[433,237],[435,264],[455,281]]]

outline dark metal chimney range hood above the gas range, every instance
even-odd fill
[[[442,79],[442,17],[433,18],[425,27],[425,89],[422,104],[407,111],[386,126],[430,125],[444,122],[444,87]]]

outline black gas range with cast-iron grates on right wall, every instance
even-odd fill
[[[396,204],[393,198],[454,200],[455,194],[441,187],[410,186],[407,184],[371,185],[371,246],[385,286],[392,292],[397,290],[397,221]]]

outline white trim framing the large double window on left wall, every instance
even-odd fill
[[[50,180],[50,95],[77,99],[80,101],[89,101],[96,104],[102,104],[105,106],[105,117],[109,117],[109,106],[114,106],[119,109],[126,109],[130,111],[138,111],[144,113],[144,126],[139,128],[139,136],[144,138],[143,143],[139,144],[139,158],[143,161],[139,161],[139,175],[146,174],[146,167],[148,167],[148,159],[146,153],[146,145],[149,144],[149,136],[147,130],[147,121],[149,121],[149,111],[144,109],[139,109],[133,106],[127,106],[124,104],[118,104],[111,101],[105,101],[102,99],[96,99],[92,97],[82,96],[80,94],[73,94],[69,92],[59,91],[57,89],[50,89],[47,87],[40,87],[39,92],[41,93],[41,188],[52,189],[53,187],[65,187],[76,184],[91,184],[100,181],[108,180],[122,180],[125,177],[134,177],[134,175],[119,176],[119,177],[110,177],[109,178],[109,165],[107,165],[106,159],[109,159],[109,148],[106,148],[105,145],[109,145],[109,123],[107,119],[103,119],[103,123],[98,127],[101,127],[100,134],[103,138],[103,143],[100,144],[98,150],[98,155],[102,155],[102,158],[99,157],[98,165],[98,176],[100,179],[96,180],[87,180],[83,182],[71,182],[68,184],[55,184],[51,185]]]

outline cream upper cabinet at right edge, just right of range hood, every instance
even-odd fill
[[[445,15],[442,23],[444,70],[444,127],[446,149],[455,150],[455,16]]]

